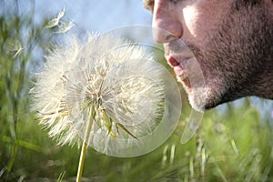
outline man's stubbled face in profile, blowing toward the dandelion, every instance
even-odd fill
[[[272,0],[144,0],[153,14],[154,37],[165,48],[177,79],[197,110],[243,96],[273,99]],[[193,59],[177,51],[184,42],[201,70],[194,91],[187,69]],[[178,47],[178,48],[177,48]],[[178,53],[178,54],[177,54]],[[180,54],[179,54],[180,53]]]

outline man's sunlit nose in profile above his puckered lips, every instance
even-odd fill
[[[169,43],[183,35],[177,7],[166,0],[156,0],[153,11],[153,35],[157,43]],[[182,9],[180,9],[182,11]]]

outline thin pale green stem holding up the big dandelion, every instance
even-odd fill
[[[85,159],[86,159],[86,148],[88,146],[88,140],[89,140],[89,136],[90,136],[91,126],[93,123],[93,113],[92,112],[93,112],[93,109],[90,108],[89,119],[88,119],[88,123],[87,123],[87,127],[86,127],[85,139],[83,141],[81,156],[80,156],[78,167],[77,167],[76,182],[81,181],[82,174],[83,174],[83,169],[84,169],[84,164],[85,164]]]

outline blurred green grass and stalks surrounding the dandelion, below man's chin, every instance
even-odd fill
[[[28,66],[35,66],[34,47],[47,49],[50,35],[47,20],[35,25],[33,14],[5,10],[0,16],[0,181],[75,181],[79,148],[56,146],[29,112]],[[273,181],[272,117],[245,98],[224,112],[207,111],[197,134],[181,145],[186,97],[177,130],[161,147],[131,158],[88,148],[83,181]]]

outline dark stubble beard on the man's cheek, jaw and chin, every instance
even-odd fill
[[[272,62],[273,22],[269,17],[262,5],[232,6],[217,30],[207,35],[206,48],[187,44],[205,79],[205,86],[195,89],[184,83],[191,106],[209,109],[255,95]]]

